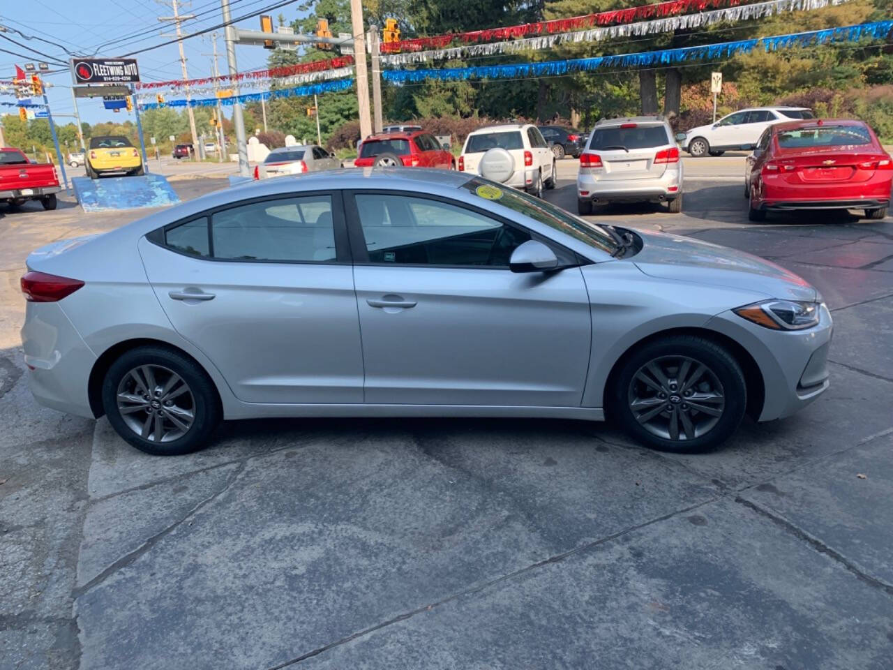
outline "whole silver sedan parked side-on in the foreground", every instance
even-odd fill
[[[828,388],[797,275],[462,172],[230,188],[38,249],[21,285],[34,396],[152,454],[263,416],[608,416],[694,452]]]

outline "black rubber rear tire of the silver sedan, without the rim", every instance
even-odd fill
[[[171,441],[148,440],[138,435],[122,418],[117,399],[119,385],[131,370],[141,365],[161,366],[179,375],[188,385],[194,418],[188,431],[179,438]],[[179,456],[204,448],[221,421],[220,398],[211,378],[187,356],[162,345],[138,347],[122,354],[105,373],[102,398],[105,415],[121,438],[140,451],[154,456]],[[145,412],[128,413],[137,419],[141,419],[145,414]]]

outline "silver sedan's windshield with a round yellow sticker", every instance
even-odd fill
[[[462,188],[467,188],[481,200],[496,200],[500,205],[514,210],[518,214],[529,216],[534,221],[545,223],[549,228],[560,230],[590,247],[601,249],[614,255],[620,246],[604,226],[584,221],[573,214],[565,212],[561,207],[530,196],[515,188],[507,188],[496,181],[475,177],[466,181]]]

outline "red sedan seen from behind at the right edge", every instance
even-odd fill
[[[749,218],[796,209],[862,209],[887,215],[893,160],[863,121],[808,119],[765,130],[747,157]]]

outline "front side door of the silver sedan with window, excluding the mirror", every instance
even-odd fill
[[[366,403],[580,406],[591,322],[573,255],[511,272],[531,233],[480,209],[395,191],[346,205]]]

